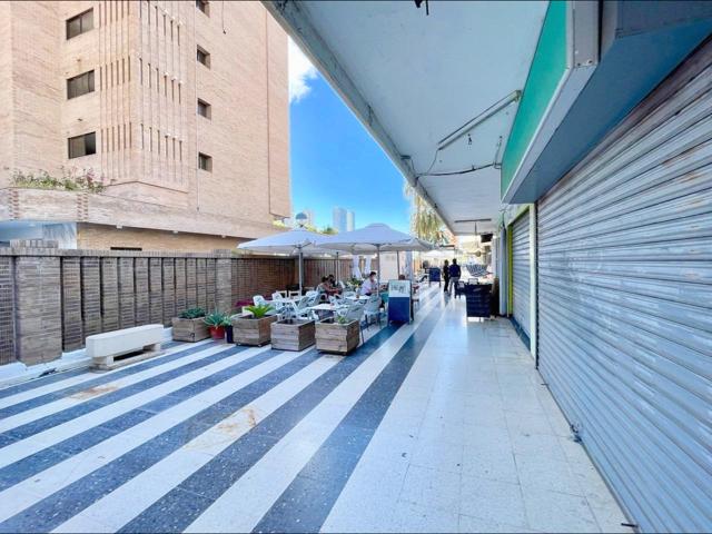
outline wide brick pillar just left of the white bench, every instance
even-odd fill
[[[18,256],[14,261],[16,350],[33,365],[62,354],[61,276],[58,256]]]

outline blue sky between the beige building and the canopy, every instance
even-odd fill
[[[356,214],[356,227],[385,222],[408,230],[404,179],[308,60],[290,43],[291,207],[309,208],[322,228],[332,208]]]

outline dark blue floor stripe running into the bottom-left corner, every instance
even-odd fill
[[[318,359],[316,349],[298,356],[162,434],[142,443],[113,462],[0,523],[3,532],[48,532],[160,462],[220,421]]]

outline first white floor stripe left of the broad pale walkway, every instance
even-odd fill
[[[186,532],[225,532],[227,525],[230,532],[250,532],[421,325],[434,304],[424,306],[412,325],[394,334]],[[236,506],[235,503],[240,504]]]

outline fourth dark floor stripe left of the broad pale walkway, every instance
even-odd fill
[[[281,350],[267,349],[257,353],[243,362],[238,362],[230,367],[218,370],[212,375],[206,376],[195,383],[188,384],[180,389],[156,398],[137,408],[130,409],[121,415],[113,417],[98,426],[88,428],[75,436],[43,448],[34,454],[26,456],[22,459],[8,464],[0,468],[0,492],[19,484],[20,482],[34,476],[36,474],[63,462],[65,459],[93,447],[105,439],[120,434],[132,426],[138,425],[160,412],[164,412],[188,398],[210,389],[235,376],[256,367],[274,356],[283,354]]]

